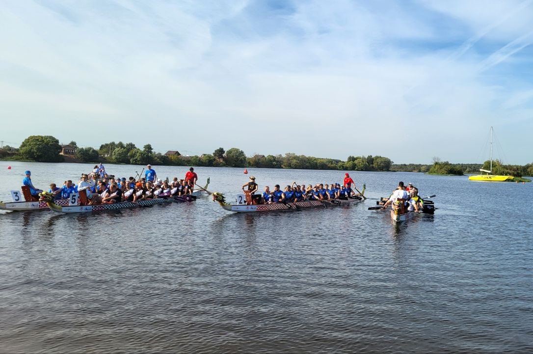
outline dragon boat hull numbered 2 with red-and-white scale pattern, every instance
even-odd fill
[[[214,192],[212,195],[213,201],[219,203],[224,210],[235,213],[254,213],[300,210],[313,207],[326,207],[359,203],[363,199],[363,195],[365,194],[365,188],[366,186],[363,185],[363,189],[360,194],[342,199],[304,200],[303,202],[296,203],[252,204],[253,202],[251,198],[246,198],[246,196],[238,195],[236,203],[230,204],[226,202],[225,197],[222,193]]]

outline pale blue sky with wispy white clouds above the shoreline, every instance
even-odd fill
[[[0,4],[0,139],[533,161],[533,0]],[[401,147],[401,148],[400,148]]]

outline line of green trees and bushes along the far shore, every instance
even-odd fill
[[[98,149],[78,147],[75,141],[69,145],[75,149],[75,158],[82,162],[109,162],[132,165],[170,165],[170,166],[207,166],[207,167],[264,167],[264,168],[300,168],[302,170],[347,170],[347,171],[403,171],[426,172],[430,174],[477,173],[479,168],[489,169],[489,161],[480,164],[450,164],[433,158],[433,164],[394,164],[384,156],[348,156],[346,161],[332,158],[320,158],[296,155],[254,155],[246,157],[238,148],[218,148],[212,154],[201,156],[164,155],[154,152],[151,144],[138,148],[132,142],[108,142]],[[50,135],[32,135],[26,138],[19,149],[5,146],[0,149],[0,158],[23,159],[37,162],[62,162],[59,140]],[[503,165],[499,160],[492,161],[494,174],[513,176],[533,175],[533,164]]]

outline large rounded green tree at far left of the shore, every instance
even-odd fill
[[[20,144],[20,155],[37,162],[61,162],[59,140],[50,135],[31,135]]]

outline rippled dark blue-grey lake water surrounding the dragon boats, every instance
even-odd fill
[[[27,169],[44,188],[92,167],[0,162],[0,200]],[[127,178],[142,166],[106,168]],[[229,200],[247,181],[241,168],[196,172]],[[249,172],[261,190],[344,177]],[[351,176],[370,199],[349,207],[233,214],[204,196],[101,214],[1,212],[0,351],[533,351],[533,183]],[[435,215],[394,224],[367,210],[400,180],[436,194]]]

